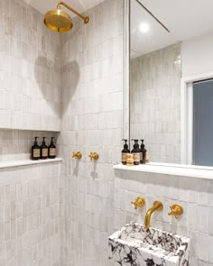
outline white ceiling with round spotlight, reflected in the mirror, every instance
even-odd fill
[[[169,30],[166,32],[144,8],[131,0],[132,57],[159,50],[178,41],[190,40],[213,32],[212,0],[140,0]],[[150,31],[139,26],[148,23]]]

